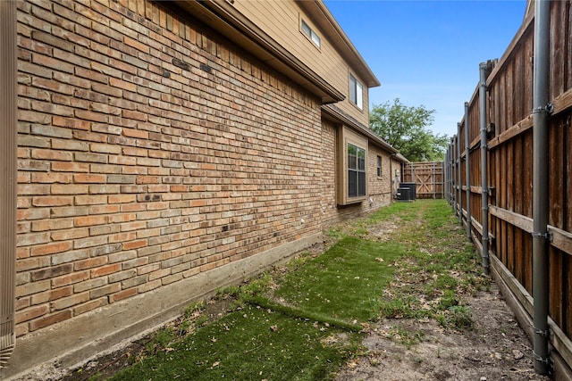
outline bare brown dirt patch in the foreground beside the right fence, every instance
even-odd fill
[[[492,284],[469,299],[475,327],[444,331],[434,321],[385,319],[369,328],[368,352],[350,360],[336,381],[498,381],[549,380],[533,369],[532,345]],[[396,337],[399,328],[423,333],[410,348]]]

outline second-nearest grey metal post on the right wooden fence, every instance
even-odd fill
[[[490,274],[489,268],[489,186],[487,185],[487,139],[486,139],[486,69],[487,64],[479,65],[479,109],[481,119],[481,209],[483,210],[483,269],[484,274]]]

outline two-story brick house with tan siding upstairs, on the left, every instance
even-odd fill
[[[367,128],[379,81],[321,1],[16,5],[3,377],[86,359],[391,202],[405,159]]]

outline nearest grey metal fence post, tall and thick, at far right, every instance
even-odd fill
[[[549,369],[549,256],[548,256],[548,114],[550,104],[550,20],[551,3],[534,4],[534,83],[533,83],[533,297],[534,370]]]

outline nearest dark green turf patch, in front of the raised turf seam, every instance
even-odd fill
[[[360,335],[249,305],[203,327],[114,380],[321,380]]]

